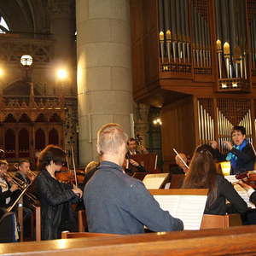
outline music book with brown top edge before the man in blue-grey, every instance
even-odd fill
[[[200,230],[207,189],[158,189],[150,193],[163,210],[183,220],[184,230]]]

